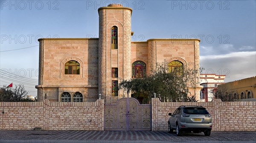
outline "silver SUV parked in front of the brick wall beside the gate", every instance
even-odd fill
[[[211,135],[212,116],[202,106],[180,106],[169,116],[169,133],[176,130],[177,136],[181,136],[182,132],[204,132],[205,136]]]

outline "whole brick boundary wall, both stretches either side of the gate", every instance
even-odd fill
[[[168,113],[181,105],[206,107],[212,131],[256,131],[256,102],[161,102],[151,99],[152,131],[167,131]],[[4,112],[4,114],[3,114]],[[104,130],[104,101],[0,102],[0,129]]]

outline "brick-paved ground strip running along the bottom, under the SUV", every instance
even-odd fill
[[[228,140],[255,141],[256,132],[212,132],[209,137],[203,133],[186,133],[177,137],[166,131],[34,131],[0,130],[0,140]]]

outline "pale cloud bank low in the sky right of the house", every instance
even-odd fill
[[[203,73],[227,75],[225,82],[256,76],[256,51],[200,56]]]

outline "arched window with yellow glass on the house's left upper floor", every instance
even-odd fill
[[[79,75],[80,74],[80,64],[76,61],[68,61],[65,64],[65,74],[68,75]]]

